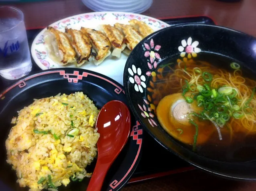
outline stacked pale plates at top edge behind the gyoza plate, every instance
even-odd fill
[[[142,13],[152,5],[153,0],[82,0],[93,11],[121,11]]]

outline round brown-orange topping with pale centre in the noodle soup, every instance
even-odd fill
[[[186,102],[181,93],[165,96],[156,108],[156,116],[161,126],[171,136],[179,141],[193,145],[195,126],[189,123],[189,113],[198,113],[202,109],[197,102]],[[212,124],[209,121],[195,121],[198,125],[197,145],[205,143],[213,133]]]

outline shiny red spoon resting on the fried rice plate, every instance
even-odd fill
[[[114,100],[102,107],[96,121],[98,159],[86,191],[101,190],[106,173],[128,140],[130,127],[130,111],[124,103]]]

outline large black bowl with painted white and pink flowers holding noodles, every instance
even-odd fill
[[[229,28],[204,24],[178,25],[154,32],[134,48],[126,62],[124,88],[130,108],[146,131],[181,159],[215,175],[255,181],[256,136],[250,137],[249,141],[244,139],[236,143],[238,146],[241,144],[243,151],[249,149],[249,154],[230,151],[237,159],[227,160],[217,149],[209,149],[209,152],[218,157],[194,152],[191,145],[181,143],[169,135],[158,121],[157,96],[165,88],[159,88],[158,84],[168,80],[165,76],[173,72],[180,62],[184,64],[197,61],[209,62],[211,66],[228,71],[234,69],[235,64],[235,67],[242,70],[245,78],[255,80],[256,38]],[[253,129],[255,127],[254,122]]]

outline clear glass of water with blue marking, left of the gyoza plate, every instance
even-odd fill
[[[20,10],[0,6],[0,75],[14,80],[28,74],[32,62]]]

